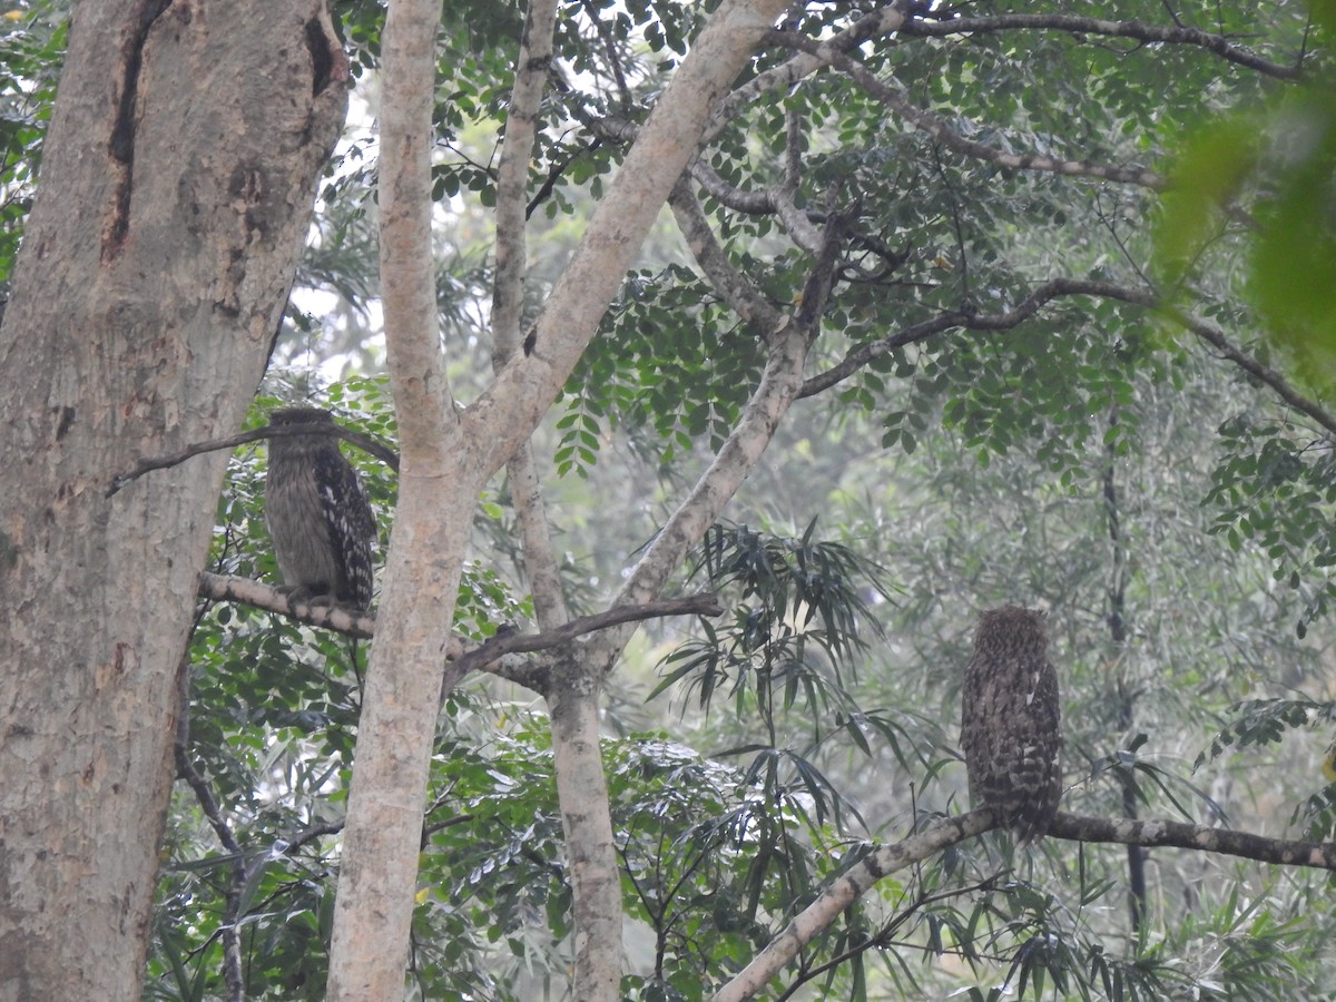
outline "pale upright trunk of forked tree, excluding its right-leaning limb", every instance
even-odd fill
[[[391,0],[381,44],[381,295],[399,494],[343,828],[331,1002],[403,994],[432,736],[480,486],[464,480],[468,456],[436,325],[430,152],[440,16],[437,0]]]

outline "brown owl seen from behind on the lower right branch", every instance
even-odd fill
[[[979,617],[965,669],[961,747],[970,796],[1029,846],[1062,796],[1062,708],[1043,613],[1005,605]]]

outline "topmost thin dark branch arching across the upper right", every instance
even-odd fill
[[[1193,45],[1213,52],[1221,59],[1248,69],[1256,69],[1279,80],[1297,80],[1300,67],[1281,65],[1263,59],[1252,49],[1236,45],[1224,35],[1214,35],[1197,28],[1176,25],[1166,28],[1141,21],[1105,21],[1098,17],[1074,17],[1061,13],[1009,13],[995,17],[957,17],[954,20],[930,20],[915,17],[899,29],[902,35],[916,37],[945,39],[957,35],[986,35],[999,31],[1061,31],[1070,35],[1100,35],[1114,39],[1130,39],[1137,43],[1160,43],[1168,45]]]

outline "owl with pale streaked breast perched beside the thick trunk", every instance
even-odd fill
[[[274,410],[269,420],[275,428],[334,424],[330,413],[318,407]],[[337,437],[269,440],[265,521],[293,597],[326,597],[358,609],[371,604],[375,518]]]

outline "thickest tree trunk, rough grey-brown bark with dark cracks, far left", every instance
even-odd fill
[[[176,667],[346,107],[325,0],[76,7],[0,330],[0,999],[139,997]]]

